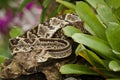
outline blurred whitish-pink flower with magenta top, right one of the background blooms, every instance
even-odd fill
[[[34,2],[30,2],[21,13],[16,14],[11,26],[21,26],[23,30],[26,31],[39,24],[41,11],[41,6],[36,5]]]

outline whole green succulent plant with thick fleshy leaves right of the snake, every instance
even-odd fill
[[[91,33],[81,33],[71,26],[63,29],[65,35],[79,43],[76,55],[91,65],[66,64],[61,67],[61,73],[101,75],[107,80],[120,80],[120,1],[86,0],[77,1],[75,5],[63,0],[57,2],[74,10]]]

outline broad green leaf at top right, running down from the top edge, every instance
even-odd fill
[[[104,0],[87,0],[87,2],[96,9],[98,16],[106,25],[108,25],[109,22],[119,23],[115,15],[112,13],[112,9],[108,7]]]

